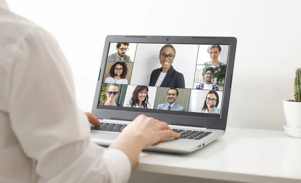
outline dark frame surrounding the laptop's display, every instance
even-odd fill
[[[226,44],[229,45],[228,61],[226,68],[226,76],[223,90],[223,100],[221,104],[221,114],[198,114],[201,116],[192,116],[196,112],[185,112],[179,114],[179,111],[144,109],[134,107],[120,106],[101,106],[98,108],[100,90],[102,86],[106,59],[108,56],[109,46],[111,42],[133,42],[133,43],[171,43],[171,44]],[[144,36],[144,35],[107,35],[102,53],[102,59],[97,78],[94,101],[92,106],[92,114],[99,119],[118,119],[133,120],[140,114],[154,117],[169,124],[196,126],[213,129],[225,130],[227,124],[227,116],[229,109],[229,100],[231,93],[231,82],[233,76],[236,37],[212,37],[212,36]],[[122,117],[120,117],[122,116]]]

